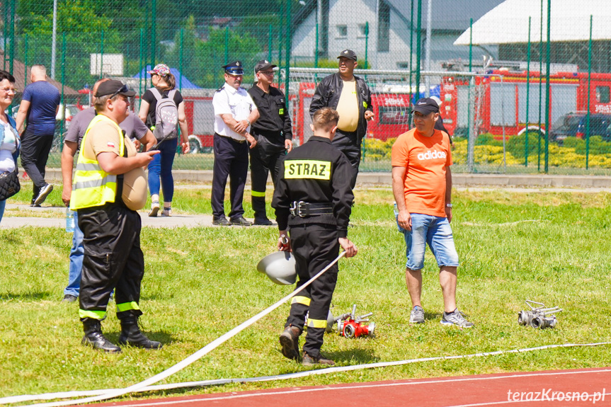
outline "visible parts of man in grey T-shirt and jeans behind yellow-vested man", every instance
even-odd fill
[[[91,101],[96,103],[96,92],[98,87],[110,79],[100,79],[93,85]],[[72,194],[72,168],[74,167],[74,155],[81,147],[81,140],[85,135],[89,123],[96,117],[96,109],[91,106],[79,112],[68,128],[64,139],[64,149],[62,150],[62,179],[64,186],[62,190],[62,201],[64,205],[70,205],[70,195]],[[156,141],[153,133],[144,125],[142,120],[132,112],[128,112],[127,118],[119,123],[119,127],[125,131],[125,136],[130,139],[137,139],[144,144],[144,150],[151,149]],[[65,302],[74,302],[79,297],[81,286],[81,268],[83,267],[83,232],[79,228],[79,218],[74,212],[74,234],[72,235],[72,248],[70,249],[70,265],[68,272],[68,286],[64,289]]]

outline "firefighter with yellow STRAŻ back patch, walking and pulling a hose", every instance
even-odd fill
[[[331,145],[338,119],[336,110],[317,110],[312,118],[314,135],[287,154],[280,166],[272,207],[280,230],[278,248],[295,256],[297,287],[335,260],[340,246],[346,257],[357,253],[346,237],[354,200],[350,188],[353,170],[346,156]],[[287,226],[290,239],[285,240]],[[321,355],[320,348],[337,274],[335,264],[292,298],[290,316],[280,335],[285,357],[299,360],[299,335],[309,311],[303,364],[334,364]]]

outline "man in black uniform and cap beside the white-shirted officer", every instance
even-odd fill
[[[284,93],[271,86],[276,65],[262,59],[255,65],[257,83],[249,89],[251,98],[259,110],[259,118],[251,125],[251,133],[257,140],[251,153],[252,203],[254,224],[271,225],[265,214],[265,185],[268,173],[276,185],[280,163],[286,151],[292,150],[291,119]]]

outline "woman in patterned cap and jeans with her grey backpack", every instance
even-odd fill
[[[138,116],[152,130],[157,139],[157,149],[161,154],[154,156],[149,163],[149,191],[151,193],[151,212],[156,217],[159,212],[159,180],[164,190],[164,210],[161,216],[171,216],[174,178],[172,164],[178,144],[178,127],[181,128],[181,147],[183,154],[189,152],[189,130],[183,96],[176,89],[176,77],[165,64],[157,64],[152,71],[151,81],[154,88],[142,95]],[[161,142],[163,141],[163,142]]]

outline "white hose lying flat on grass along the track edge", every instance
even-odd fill
[[[220,384],[230,384],[230,383],[270,382],[273,380],[298,379],[299,377],[314,376],[317,374],[349,372],[351,370],[373,369],[375,367],[409,365],[411,363],[430,362],[432,360],[452,360],[452,359],[463,359],[466,357],[503,355],[505,353],[532,352],[535,350],[545,350],[545,349],[552,349],[552,348],[575,348],[575,347],[583,347],[583,346],[601,346],[601,345],[611,345],[611,342],[565,343],[562,345],[544,345],[544,346],[537,346],[536,348],[496,350],[494,352],[472,353],[469,355],[421,357],[418,359],[397,360],[394,362],[378,362],[378,363],[365,363],[362,365],[353,365],[353,366],[327,367],[326,369],[308,370],[306,372],[277,374],[274,376],[247,377],[245,379],[244,378],[212,379],[212,380],[202,380],[200,382],[159,384],[156,386],[143,387],[142,389],[139,389],[134,392],[136,393],[140,391],[160,391],[160,390],[171,390],[171,389],[184,389],[187,387],[217,386]],[[115,391],[115,390],[116,389],[89,390],[89,391],[63,391],[59,393],[45,393],[45,394],[24,395],[24,396],[8,396],[8,397],[1,398],[0,404],[23,403],[24,401],[36,401],[36,400],[68,399],[71,397],[83,397],[83,396],[97,396],[97,395],[106,394],[106,393],[109,393],[110,391]]]

